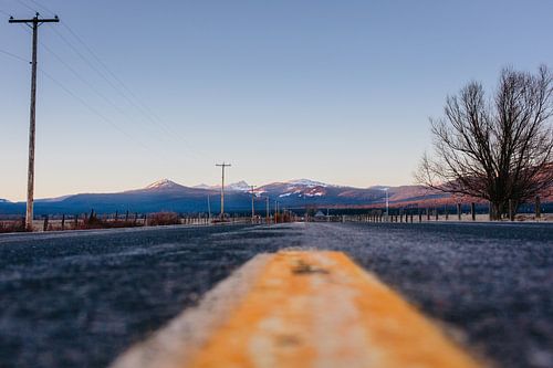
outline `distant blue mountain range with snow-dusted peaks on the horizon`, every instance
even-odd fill
[[[249,212],[251,210],[251,187],[246,181],[225,187],[225,209],[227,212]],[[390,207],[453,204],[447,193],[428,190],[421,186],[354,188],[334,186],[320,181],[299,179],[273,182],[253,190],[257,211],[264,212],[267,198],[271,210],[274,201],[280,208],[348,208],[363,209],[384,207],[386,191]],[[81,193],[59,198],[39,199],[34,211],[41,214],[74,214],[94,209],[97,213],[125,211],[150,213],[174,211],[198,213],[220,211],[220,187],[200,185],[181,186],[169,179],[156,181],[145,188],[114,193]],[[19,215],[25,211],[24,202],[0,200],[0,214]]]

